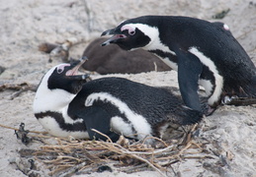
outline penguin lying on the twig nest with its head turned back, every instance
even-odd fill
[[[191,125],[204,117],[170,89],[116,77],[88,81],[88,75],[77,73],[84,62],[52,67],[39,85],[34,114],[52,136],[106,141],[95,129],[113,142],[121,135],[161,138],[168,125]]]

